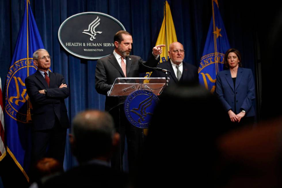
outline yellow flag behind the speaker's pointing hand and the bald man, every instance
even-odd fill
[[[165,44],[165,47],[163,47],[163,53],[160,55],[160,63],[168,60],[169,44],[173,42],[177,42],[177,37],[172,20],[172,15],[170,12],[170,7],[168,2],[165,1],[163,9],[163,23],[161,25],[161,30],[156,42],[156,45]],[[146,73],[145,77],[150,77],[151,74],[152,72],[148,72]]]

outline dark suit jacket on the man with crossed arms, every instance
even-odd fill
[[[59,88],[66,83],[64,77],[58,73],[49,71],[50,88],[37,70],[33,75],[25,79],[26,90],[32,104],[33,130],[51,129],[56,117],[61,127],[68,128],[69,120],[64,98],[69,96],[69,88]],[[41,94],[39,90],[47,90],[47,94]]]

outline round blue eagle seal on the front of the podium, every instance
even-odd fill
[[[158,102],[159,98],[151,91],[134,91],[125,99],[125,116],[132,125],[146,129],[149,127],[153,111]]]

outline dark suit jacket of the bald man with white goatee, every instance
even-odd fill
[[[177,83],[199,83],[199,74],[198,74],[198,69],[194,65],[183,63],[183,72],[180,80],[178,81],[176,78],[176,75],[174,74],[174,70],[172,68],[172,64],[170,62],[170,59],[166,62],[159,63],[157,67],[166,69],[170,71],[169,77],[169,83],[168,85],[175,85]],[[165,73],[161,71],[154,71],[151,75],[151,77],[165,77]]]

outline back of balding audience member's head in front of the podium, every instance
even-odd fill
[[[111,151],[115,126],[108,112],[89,110],[73,119],[72,133],[80,160],[105,155]]]

